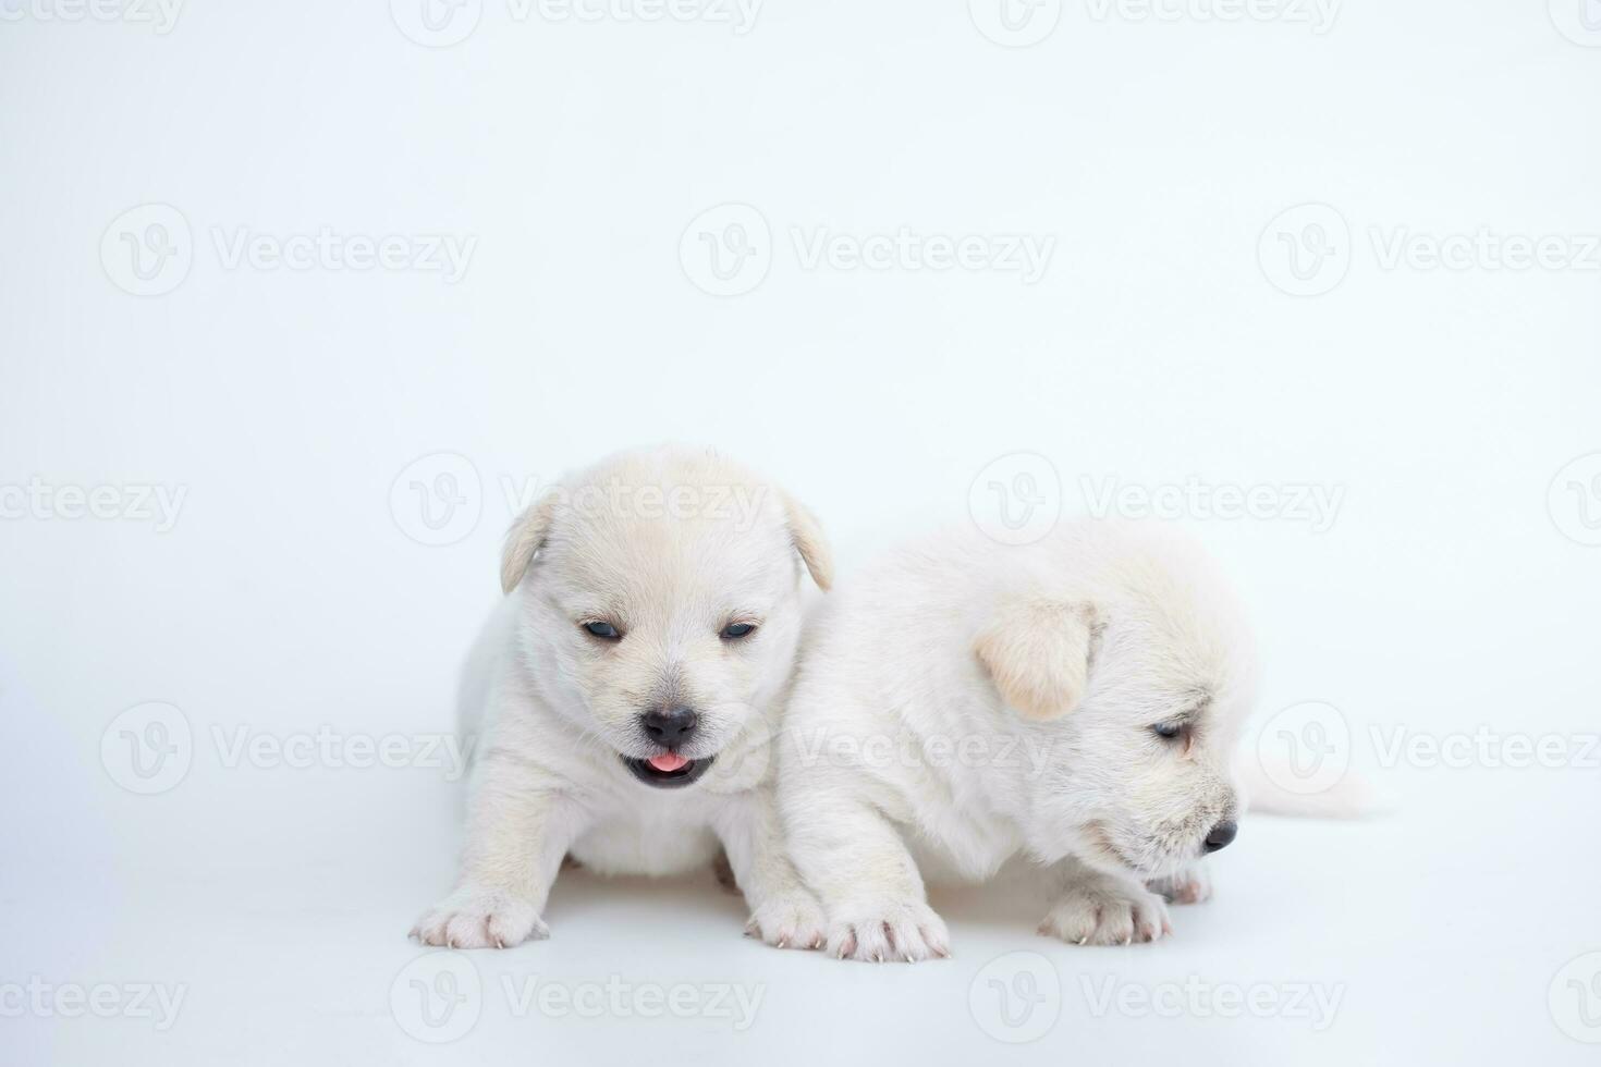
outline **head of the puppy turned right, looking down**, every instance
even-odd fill
[[[1254,659],[1204,560],[1135,555],[1108,577],[1002,600],[975,651],[1039,753],[1031,851],[1151,878],[1234,838]]]

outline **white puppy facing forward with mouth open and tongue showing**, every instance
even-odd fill
[[[826,589],[810,514],[704,451],[615,456],[519,517],[506,600],[461,685],[463,731],[484,731],[461,877],[411,933],[458,949],[546,937],[564,856],[666,875],[720,845],[748,929],[818,947],[823,915],[786,857],[768,752],[802,561]]]

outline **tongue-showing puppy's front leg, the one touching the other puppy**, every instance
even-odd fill
[[[784,851],[772,789],[752,789],[732,798],[717,813],[712,829],[751,907],[746,929],[780,949],[821,949],[823,909]]]

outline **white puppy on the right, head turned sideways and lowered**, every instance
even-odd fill
[[[857,960],[948,953],[924,877],[1045,875],[1041,933],[1153,941],[1234,837],[1254,689],[1228,590],[1182,544],[1074,523],[948,533],[829,597],[786,712],[796,865]],[[1150,886],[1148,886],[1150,883]]]

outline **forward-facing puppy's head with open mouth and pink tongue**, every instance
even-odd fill
[[[687,785],[749,742],[789,677],[812,515],[706,451],[624,453],[535,502],[506,539],[535,685],[640,781]]]

